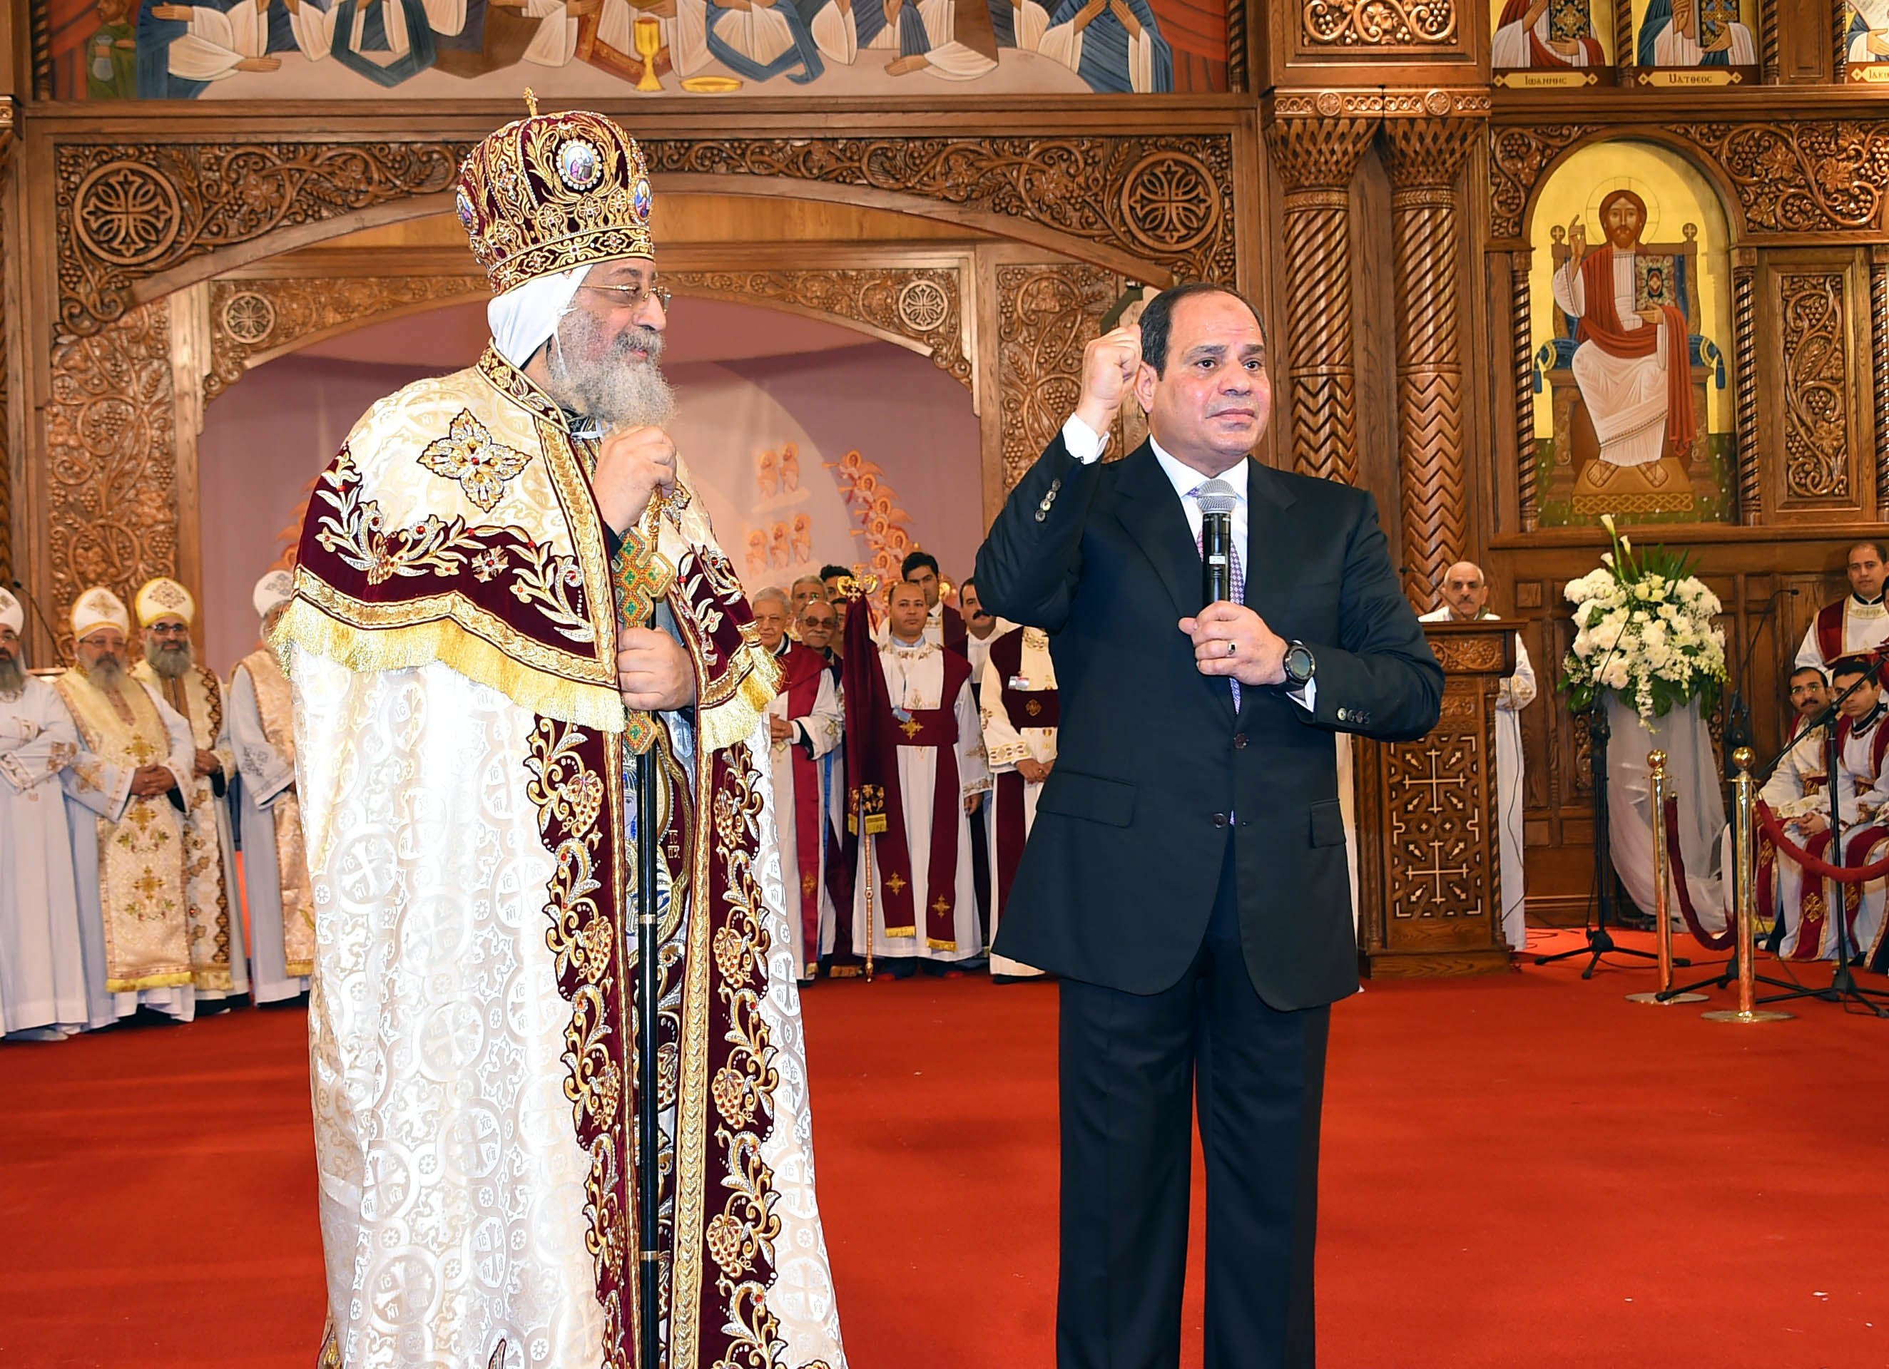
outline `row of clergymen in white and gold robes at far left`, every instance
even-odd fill
[[[264,629],[289,591],[283,570],[257,583]],[[289,682],[261,646],[229,682],[200,665],[176,580],[145,583],[134,610],[136,633],[115,593],[81,593],[76,659],[47,676],[26,668],[23,604],[0,589],[9,1040],[306,1001],[315,923]]]

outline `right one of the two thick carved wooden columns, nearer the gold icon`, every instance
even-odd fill
[[[1462,451],[1462,247],[1456,176],[1481,132],[1468,119],[1385,125],[1398,287],[1398,472],[1404,561],[1430,583],[1464,555],[1470,482]]]

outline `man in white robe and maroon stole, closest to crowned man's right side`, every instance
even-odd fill
[[[801,982],[807,982],[820,963],[820,931],[833,925],[833,895],[825,878],[831,791],[822,759],[841,744],[846,716],[825,655],[788,638],[788,597],[763,589],[748,602],[761,646],[774,653],[782,674],[780,693],[767,704],[769,761],[793,963]],[[824,950],[831,952],[831,942]]]

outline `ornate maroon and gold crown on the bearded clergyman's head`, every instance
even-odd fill
[[[586,110],[531,113],[459,164],[455,208],[493,295],[536,276],[654,257],[650,172],[637,140]]]

